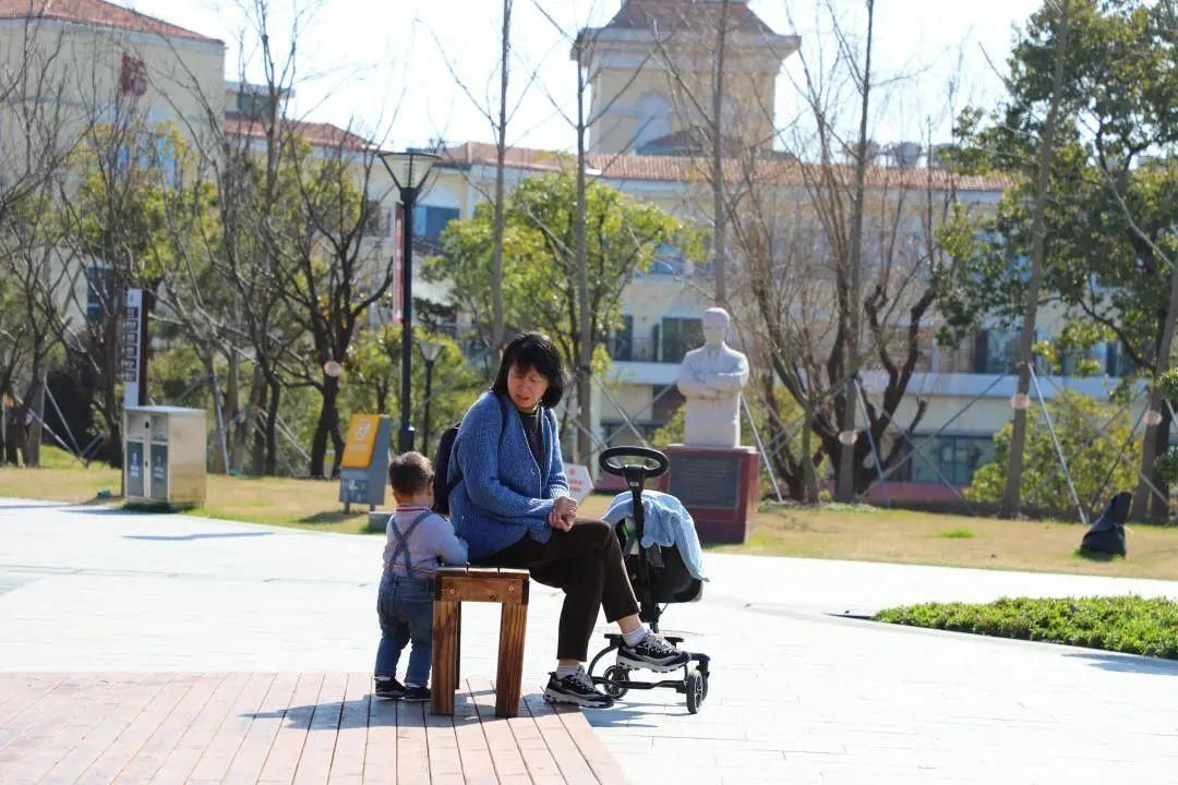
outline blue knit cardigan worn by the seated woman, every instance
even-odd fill
[[[547,543],[554,499],[569,495],[556,414],[543,408],[542,465],[537,465],[519,413],[510,400],[484,393],[466,411],[450,458],[449,479],[462,481],[450,492],[455,533],[466,540],[470,559],[497,553],[530,535]],[[457,465],[456,465],[457,464]]]

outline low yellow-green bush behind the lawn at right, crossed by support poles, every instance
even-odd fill
[[[1067,458],[1076,492],[1084,505],[1093,507],[1108,493],[1136,487],[1133,455],[1140,450],[1141,440],[1136,434],[1130,439],[1133,421],[1127,411],[1117,413],[1117,406],[1101,404],[1071,390],[1061,391],[1047,403],[1047,408],[1060,448]],[[984,503],[1001,500],[1011,433],[1012,425],[1007,423],[994,434],[994,460],[974,473],[973,484],[965,491],[967,499]],[[1027,412],[1023,488],[1028,506],[1048,510],[1070,510],[1073,506],[1051,433],[1037,405]]]

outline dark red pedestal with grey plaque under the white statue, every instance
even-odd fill
[[[756,450],[669,445],[663,452],[670,471],[660,478],[660,490],[691,513],[700,541],[743,543],[760,495]]]

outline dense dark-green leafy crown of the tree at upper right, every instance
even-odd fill
[[[1158,251],[1170,258],[1178,252],[1178,69],[1167,54],[1178,31],[1167,5],[1068,6],[1043,266],[1044,300],[1064,304],[1084,330],[1114,335],[1147,373],[1157,364],[1170,300],[1170,267]],[[999,106],[972,107],[958,118],[962,144],[948,155],[952,165],[964,173],[1002,174],[1011,185],[980,226],[946,229],[955,245],[955,266],[946,277],[957,284],[946,286],[947,328],[960,330],[982,313],[1014,321],[1026,310],[1031,206],[1058,8],[1045,4],[1031,16],[1013,48],[1011,91]],[[1058,348],[1071,355],[1074,347]],[[1081,362],[1079,371],[1096,368]]]

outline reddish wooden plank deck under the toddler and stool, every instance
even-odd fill
[[[580,711],[378,700],[368,673],[0,673],[0,783],[624,783]]]

